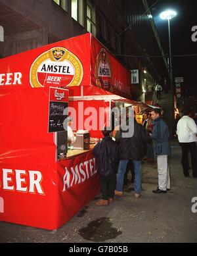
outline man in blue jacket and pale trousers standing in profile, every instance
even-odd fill
[[[158,162],[158,188],[153,193],[166,193],[170,190],[169,166],[167,156],[170,155],[169,147],[169,129],[167,124],[161,118],[161,109],[154,109],[152,112],[152,141],[154,153]]]

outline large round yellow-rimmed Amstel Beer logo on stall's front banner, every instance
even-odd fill
[[[52,48],[37,57],[30,69],[33,88],[79,86],[82,78],[81,62],[76,55],[62,47]]]

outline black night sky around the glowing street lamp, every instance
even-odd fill
[[[154,3],[156,0],[148,0],[149,6]],[[191,39],[192,26],[197,26],[197,1],[159,0],[151,8],[162,46],[165,53],[169,53],[167,20],[162,20],[159,16],[165,9],[177,11],[177,16],[170,21],[172,55],[197,53],[197,41],[192,42]],[[197,56],[173,57],[173,76],[183,76],[186,88],[197,90]]]

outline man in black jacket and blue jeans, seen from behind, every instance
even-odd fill
[[[134,113],[135,115],[135,113]],[[132,117],[130,117],[132,118]],[[119,143],[120,163],[116,175],[115,195],[123,195],[123,178],[129,159],[133,161],[135,172],[134,189],[135,198],[141,196],[141,160],[146,155],[146,143],[151,143],[151,138],[146,129],[138,124],[134,116],[134,133],[132,137],[125,138],[123,130],[116,133],[116,141]]]

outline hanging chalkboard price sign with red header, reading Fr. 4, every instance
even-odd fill
[[[48,132],[62,132],[68,117],[68,90],[50,88]]]

